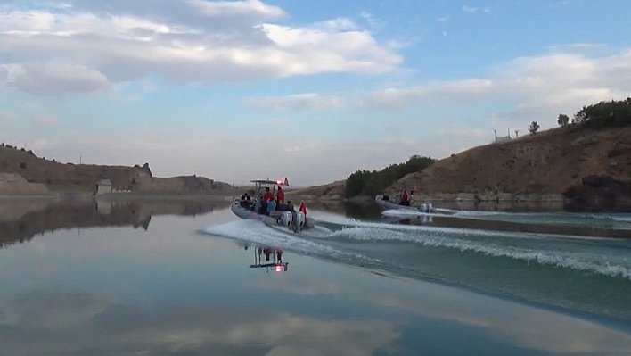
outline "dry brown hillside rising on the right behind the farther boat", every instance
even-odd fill
[[[475,147],[407,175],[389,191],[400,186],[432,199],[629,200],[631,127],[569,126]]]

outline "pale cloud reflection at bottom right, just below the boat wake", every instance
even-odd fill
[[[481,327],[520,347],[543,352],[627,354],[625,352],[631,350],[631,335],[617,329],[444,286],[428,284],[422,290],[414,288],[414,294],[409,295],[402,288],[392,293],[380,291],[378,287],[366,290],[305,279],[291,284],[282,282],[266,280],[265,284],[256,287],[293,294],[343,296],[425,318]]]

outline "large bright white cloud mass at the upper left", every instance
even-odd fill
[[[347,18],[285,26],[274,22],[288,16],[283,9],[258,0],[70,0],[61,12],[47,4],[0,8],[0,64],[30,65],[17,86],[30,93],[85,92],[149,75],[187,83],[373,73],[402,62],[397,47]]]

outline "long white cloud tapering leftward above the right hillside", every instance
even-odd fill
[[[631,50],[600,57],[574,53],[522,57],[497,66],[488,78],[389,87],[355,95],[258,98],[250,103],[266,109],[321,111],[400,110],[423,100],[443,100],[452,105],[512,102],[512,109],[499,113],[496,119],[524,123],[627,96],[631,96]]]

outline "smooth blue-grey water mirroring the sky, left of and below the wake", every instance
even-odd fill
[[[198,211],[182,203],[135,203],[142,206],[135,205],[135,219],[146,211]],[[234,219],[225,208],[226,219]],[[119,209],[101,211],[115,220]],[[62,220],[79,213],[70,211],[60,213]],[[383,277],[285,252],[276,243],[237,242],[235,248],[235,240],[193,233],[222,211],[195,220],[152,219],[147,234],[131,228],[134,219],[125,220],[127,228],[89,229],[80,237],[56,231],[42,239],[45,249],[33,242],[0,251],[0,272],[14,270],[0,274],[0,354],[622,355],[631,349],[627,325],[617,329]],[[269,274],[249,268],[278,261],[299,268]],[[37,263],[55,272],[38,277],[29,268]]]

